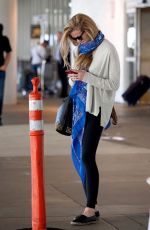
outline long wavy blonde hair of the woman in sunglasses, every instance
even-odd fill
[[[81,31],[85,31],[89,41],[94,40],[96,35],[99,32],[99,29],[96,23],[85,14],[76,14],[74,15],[64,27],[63,36],[61,39],[60,52],[62,58],[64,60],[64,65],[67,68],[70,68],[70,64],[68,62],[68,54],[70,50],[70,42],[72,42],[75,46],[77,46],[77,42],[71,39],[70,33],[73,30],[80,29]],[[90,54],[78,54],[75,58],[75,65],[77,69],[88,69],[92,62],[93,56]]]

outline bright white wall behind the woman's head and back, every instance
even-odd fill
[[[85,13],[92,17],[99,28],[116,47],[121,65],[121,83],[117,91],[116,101],[123,102],[121,94],[124,92],[124,31],[125,31],[125,0],[72,0],[73,16]]]

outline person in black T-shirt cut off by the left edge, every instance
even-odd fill
[[[0,126],[2,123],[2,110],[5,88],[6,70],[11,58],[11,45],[7,36],[3,35],[3,24],[0,23]]]

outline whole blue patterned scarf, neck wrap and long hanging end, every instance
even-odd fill
[[[80,44],[79,53],[88,54],[95,50],[104,40],[104,35],[99,32],[95,40]],[[72,161],[78,175],[81,178],[84,190],[86,191],[86,174],[82,162],[82,138],[84,132],[84,125],[86,119],[86,83],[82,81],[75,81],[71,91],[70,97],[73,99],[73,124],[72,124]]]

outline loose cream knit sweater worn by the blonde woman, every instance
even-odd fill
[[[105,127],[120,81],[118,54],[108,40],[105,39],[95,50],[89,72],[83,81],[87,83],[86,111],[97,116],[101,108],[100,125]]]

